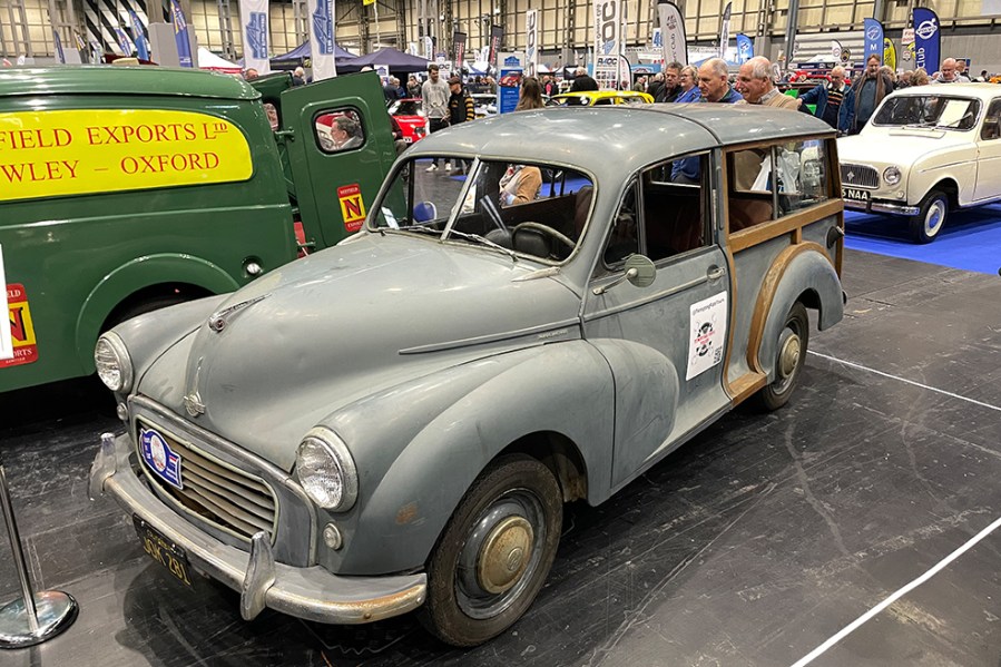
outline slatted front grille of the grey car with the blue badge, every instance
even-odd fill
[[[139,422],[139,428],[151,428]],[[189,512],[227,532],[249,541],[259,531],[274,541],[277,501],[263,480],[251,477],[230,465],[195,450],[190,444],[156,429],[170,450],[180,457],[181,488],[165,482],[149,467],[139,452],[147,479],[171,500]],[[141,438],[136,438],[141,442]],[[141,444],[139,445],[141,448]]]

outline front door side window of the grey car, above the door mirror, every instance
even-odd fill
[[[681,163],[677,171],[689,176],[671,178]],[[640,219],[645,254],[654,262],[708,245],[703,196],[709,192],[708,163],[708,154],[693,155],[644,171]]]

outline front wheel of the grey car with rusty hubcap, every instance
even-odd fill
[[[562,518],[560,487],[546,465],[524,455],[491,463],[434,547],[421,622],[452,646],[507,630],[546,582]]]

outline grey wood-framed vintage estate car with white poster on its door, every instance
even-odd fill
[[[807,308],[843,315],[834,139],[726,105],[435,133],[359,234],[100,339],[125,432],[91,496],[246,619],[418,609],[485,641],[542,588],[565,502],[601,503],[747,399],[789,400]],[[681,160],[695,183],[671,182]]]

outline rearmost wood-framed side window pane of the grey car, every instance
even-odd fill
[[[788,141],[775,148],[778,216],[788,215],[827,197],[827,154],[822,139]]]

